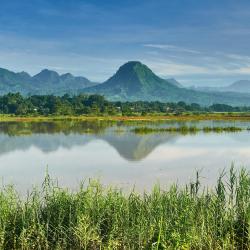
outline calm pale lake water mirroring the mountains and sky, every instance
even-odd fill
[[[246,122],[168,122],[147,126],[249,127]],[[89,177],[125,188],[155,182],[184,184],[196,170],[212,185],[224,168],[250,169],[250,132],[135,135],[135,124],[0,123],[0,176],[21,191],[40,184],[46,166],[60,185],[74,188]]]

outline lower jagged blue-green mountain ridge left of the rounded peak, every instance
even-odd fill
[[[73,76],[70,73],[59,75],[57,72],[44,69],[30,76],[26,72],[15,73],[0,68],[0,94],[20,92],[22,94],[64,94],[74,93],[80,88],[94,86],[85,77]]]

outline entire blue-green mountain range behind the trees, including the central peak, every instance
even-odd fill
[[[0,69],[0,94],[8,92],[20,92],[25,95],[96,93],[110,100],[121,101],[250,105],[250,93],[247,93],[250,92],[249,81],[239,81],[223,88],[185,88],[175,79],[160,78],[146,65],[137,61],[125,63],[101,84],[91,82],[85,77],[75,77],[70,73],[59,75],[47,69],[35,76],[26,72],[14,73]]]

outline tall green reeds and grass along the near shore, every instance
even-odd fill
[[[0,192],[0,249],[249,249],[250,176],[222,174],[214,189],[199,176],[186,187],[124,193],[98,181],[78,191],[46,176],[24,199]]]

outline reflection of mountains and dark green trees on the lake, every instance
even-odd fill
[[[173,143],[179,136],[135,135],[130,133],[130,126],[114,126],[114,123],[105,122],[6,123],[1,124],[0,129],[0,155],[15,150],[28,150],[32,146],[49,153],[61,147],[71,149],[74,146],[84,146],[99,139],[131,161],[144,159],[158,145]]]

